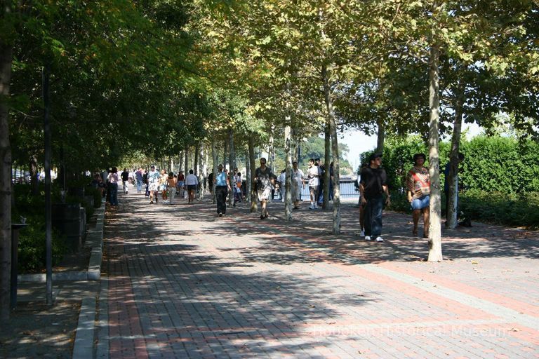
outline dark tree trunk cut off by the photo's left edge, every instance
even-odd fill
[[[3,13],[7,5],[0,9]],[[2,36],[4,38],[4,36]],[[11,144],[9,143],[9,98],[13,48],[0,38],[0,321],[9,320],[11,278]]]

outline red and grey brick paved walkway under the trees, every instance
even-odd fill
[[[107,217],[98,358],[539,358],[538,233],[444,233],[440,263],[409,217],[365,242],[357,209],[260,221],[248,206],[148,205]]]

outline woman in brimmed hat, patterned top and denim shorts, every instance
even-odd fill
[[[413,155],[413,168],[408,171],[407,188],[408,202],[410,202],[413,210],[413,230],[414,236],[418,235],[418,222],[421,212],[423,212],[423,237],[429,236],[429,219],[430,219],[430,177],[429,170],[423,165],[425,164],[425,154]]]

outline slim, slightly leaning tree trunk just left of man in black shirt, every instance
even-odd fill
[[[324,80],[324,100],[331,133],[331,154],[333,156],[333,234],[340,233],[340,180],[339,180],[339,147],[337,139],[337,123],[335,123],[335,111],[333,111],[333,99],[331,98],[331,88],[329,86],[329,74],[326,65],[322,67],[322,79]],[[329,172],[329,163],[326,163],[326,170]],[[327,177],[326,177],[327,178]],[[329,179],[328,179],[329,184]],[[325,184],[324,184],[325,187]]]

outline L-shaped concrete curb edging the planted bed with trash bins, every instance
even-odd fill
[[[90,260],[86,271],[66,271],[53,273],[53,280],[99,280],[101,278],[101,259],[103,257],[103,227],[105,224],[105,203],[95,208],[95,228],[86,231],[84,248],[91,248]],[[18,282],[45,283],[46,274],[20,274]]]

